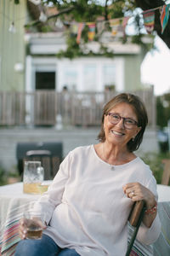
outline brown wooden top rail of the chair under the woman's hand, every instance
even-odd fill
[[[128,221],[133,227],[136,227],[138,224],[140,214],[144,208],[144,204],[144,201],[135,201],[133,204],[133,208],[128,217]]]

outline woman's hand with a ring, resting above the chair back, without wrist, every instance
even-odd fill
[[[123,192],[132,201],[144,200],[147,208],[154,207],[156,205],[155,195],[140,183],[127,183],[123,186]]]

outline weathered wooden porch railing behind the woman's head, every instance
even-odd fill
[[[116,92],[0,91],[0,125],[100,125],[102,109]],[[142,98],[149,125],[156,125],[152,88],[133,91]]]

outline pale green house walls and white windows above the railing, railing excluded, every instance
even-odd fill
[[[59,59],[56,54],[60,49],[66,49],[62,32],[42,33],[35,29],[35,32],[29,33],[25,30],[26,22],[32,19],[31,10],[38,15],[34,2],[0,2],[0,90],[61,91],[65,86],[68,90],[77,91],[143,88],[140,65],[145,51],[141,46],[112,40],[105,42],[105,45],[114,53],[114,57],[87,55],[72,61]],[[88,49],[99,52],[99,44],[91,42]]]

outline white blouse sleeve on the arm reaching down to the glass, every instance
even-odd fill
[[[45,212],[46,224],[49,223],[55,207],[57,207],[61,200],[65,190],[65,183],[70,177],[71,166],[71,153],[69,153],[65,160],[59,166],[59,171],[54,177],[53,182],[48,187],[48,191],[45,192],[41,198],[35,203],[35,212]]]

